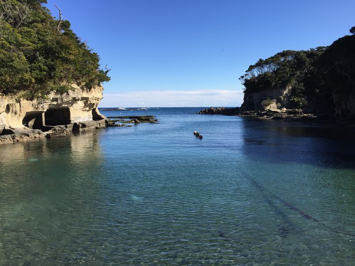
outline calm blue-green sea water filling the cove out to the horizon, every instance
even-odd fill
[[[354,135],[199,109],[0,146],[0,265],[354,265]]]

